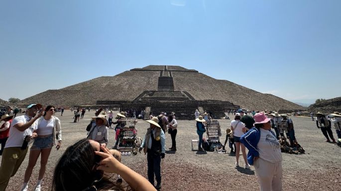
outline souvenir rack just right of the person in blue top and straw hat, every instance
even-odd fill
[[[207,121],[207,141],[210,145],[210,151],[216,151],[223,146],[219,139],[219,133],[221,133],[221,128],[218,120]]]

